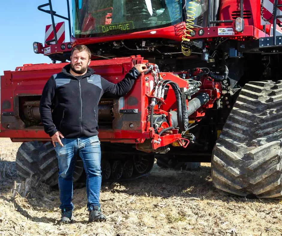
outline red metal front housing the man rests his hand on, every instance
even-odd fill
[[[112,60],[96,60],[91,61],[90,67],[94,68],[96,73],[106,78],[108,81],[117,83],[121,81],[125,74],[136,63],[146,63],[141,56],[131,56],[125,58],[114,58]],[[24,99],[34,98],[34,101],[40,99],[43,87],[46,81],[52,74],[61,72],[63,66],[68,63],[59,64],[26,64],[17,67],[16,71],[5,71],[1,76],[1,124],[0,124],[0,137],[10,137],[13,141],[32,141],[32,140],[50,140],[48,135],[44,132],[43,126],[30,126],[26,128],[25,123],[22,121],[21,109]],[[200,70],[199,70],[200,72]],[[166,72],[160,73],[163,79],[169,79],[176,82],[179,87],[188,88],[189,83],[174,75],[173,73]],[[145,78],[146,77],[146,78]],[[132,90],[123,98],[115,100],[113,112],[115,119],[113,120],[113,128],[100,128],[99,138],[101,141],[122,142],[122,143],[142,143],[146,139],[152,139],[152,147],[157,149],[162,146],[167,146],[170,143],[178,143],[179,146],[186,147],[189,140],[181,137],[177,129],[170,132],[172,134],[164,133],[161,136],[156,134],[154,129],[150,128],[148,121],[149,111],[148,106],[150,98],[153,96],[153,81],[154,78],[151,74],[140,76],[134,83]],[[211,104],[217,96],[215,82],[203,83],[202,91],[207,91],[211,97]],[[169,90],[172,90],[171,88]],[[170,91],[169,91],[170,93]],[[171,94],[171,93],[170,93]],[[215,94],[213,96],[213,94]],[[37,97],[34,97],[37,96]],[[23,99],[23,100],[21,100]],[[175,103],[175,97],[170,95],[170,100]],[[21,102],[23,101],[23,102]],[[132,102],[135,101],[135,102]],[[6,104],[5,106],[3,104]],[[8,105],[7,105],[8,104]],[[164,114],[167,117],[168,123],[159,127],[158,132],[163,128],[171,125],[170,114],[168,113],[170,107],[162,101],[160,108],[155,106],[156,114]],[[205,107],[207,109],[208,106]],[[138,109],[137,117],[132,118],[132,114],[121,114],[122,109]],[[117,112],[118,111],[118,112]],[[128,116],[129,115],[129,116]],[[128,118],[127,118],[128,116]],[[116,123],[122,124],[118,128]],[[133,127],[131,127],[131,124]]]

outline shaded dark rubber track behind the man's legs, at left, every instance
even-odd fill
[[[40,141],[22,143],[16,154],[16,171],[21,180],[32,174],[51,187],[58,184],[58,159],[53,144]],[[83,171],[83,163],[78,156],[73,173],[74,182]]]

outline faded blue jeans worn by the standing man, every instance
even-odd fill
[[[58,184],[60,190],[60,208],[73,210],[73,170],[76,155],[79,153],[86,173],[86,191],[88,211],[99,206],[101,190],[101,148],[98,136],[63,138],[63,147],[56,142],[55,151],[59,164]]]

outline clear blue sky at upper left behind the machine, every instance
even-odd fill
[[[0,75],[4,70],[14,70],[27,63],[51,63],[43,54],[35,54],[32,47],[33,42],[44,43],[45,27],[52,24],[51,15],[37,9],[48,0],[0,1]],[[52,7],[57,14],[67,17],[67,0],[52,0]],[[55,17],[55,23],[62,21]],[[65,41],[68,42],[67,21],[65,31]]]

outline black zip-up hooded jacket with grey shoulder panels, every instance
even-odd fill
[[[94,74],[69,73],[70,64],[61,73],[52,75],[45,84],[40,100],[44,130],[51,137],[60,131],[65,138],[91,137],[98,134],[98,102],[104,93],[122,97],[128,93],[140,72],[134,67],[117,84]]]

